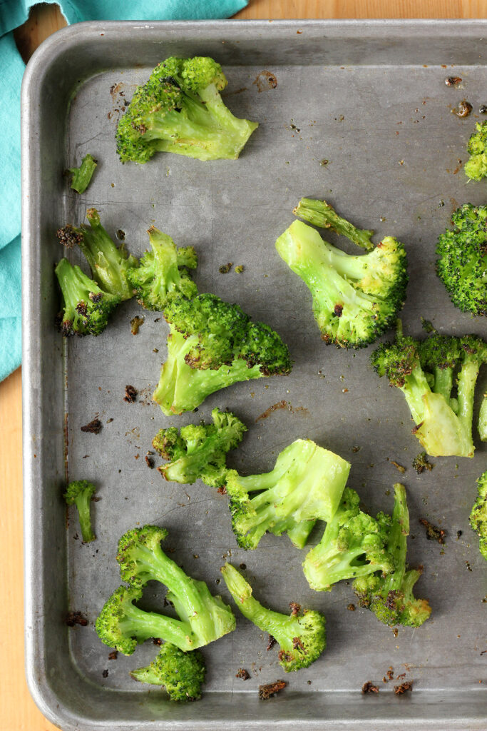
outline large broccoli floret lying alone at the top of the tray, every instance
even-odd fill
[[[166,58],[136,89],[118,123],[120,160],[145,163],[156,152],[237,159],[258,124],[234,117],[220,95],[226,84],[212,58]]]

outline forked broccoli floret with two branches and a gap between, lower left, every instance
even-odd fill
[[[105,645],[123,654],[137,643],[159,637],[188,651],[207,645],[235,629],[235,618],[221,596],[212,596],[204,581],[186,575],[166,556],[161,540],[164,528],[144,526],[127,531],[118,542],[120,575],[130,588],[121,586],[106,602],[96,620],[96,632]],[[180,619],[145,612],[134,605],[147,581],[163,583],[166,600]]]

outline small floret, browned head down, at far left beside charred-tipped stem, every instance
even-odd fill
[[[64,336],[99,335],[120,298],[99,288],[77,265],[61,259],[55,268],[64,307],[58,315],[58,326]]]

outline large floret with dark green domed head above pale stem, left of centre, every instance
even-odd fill
[[[168,416],[191,411],[210,393],[239,381],[291,371],[280,336],[215,295],[175,298],[164,317],[170,327],[167,359],[153,399]]]

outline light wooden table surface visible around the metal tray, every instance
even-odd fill
[[[250,0],[237,18],[486,18],[487,0]],[[34,8],[16,31],[27,60],[65,25],[57,6]],[[37,710],[23,671],[22,420],[20,368],[0,384],[0,731],[54,731]],[[113,731],[116,731],[115,729]]]

